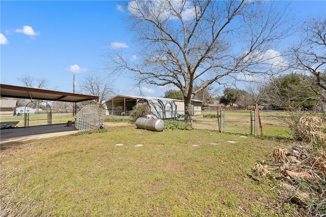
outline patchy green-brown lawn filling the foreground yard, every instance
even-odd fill
[[[257,161],[271,160],[271,151],[287,144],[124,125],[4,145],[0,210],[11,216],[296,215],[279,197],[276,179],[252,174]]]

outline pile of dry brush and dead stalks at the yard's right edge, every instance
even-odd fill
[[[326,216],[326,138],[323,121],[304,116],[298,121],[300,143],[290,150],[275,148],[273,163],[256,163],[254,173],[265,178],[271,170],[281,172],[281,190],[307,216]]]

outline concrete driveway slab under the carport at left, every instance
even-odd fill
[[[28,141],[33,139],[65,136],[79,132],[74,125],[65,127],[62,125],[47,125],[28,128],[12,128],[0,130],[0,144]]]

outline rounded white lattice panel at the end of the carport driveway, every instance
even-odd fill
[[[76,114],[75,128],[80,131],[98,130],[103,126],[101,109],[87,105]]]

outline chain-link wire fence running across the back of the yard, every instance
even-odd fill
[[[184,110],[178,111],[158,111],[159,114],[165,115],[169,121],[183,121]],[[166,115],[164,113],[168,113]],[[240,133],[258,135],[257,117],[252,110],[213,110],[213,111],[191,111],[193,114],[193,127],[199,130],[211,130],[220,132]],[[289,118],[287,112],[283,111],[267,111],[259,110],[260,120],[262,126],[263,136],[274,137],[291,137],[291,132],[286,125],[286,120]],[[110,113],[107,111],[102,112],[104,121],[111,122],[129,122],[130,111]],[[50,118],[50,120],[49,120]],[[3,128],[14,127],[31,127],[49,124],[67,123],[68,121],[75,121],[73,113],[39,113],[28,114],[28,118],[24,114],[21,115],[6,115],[0,114],[0,122]]]

